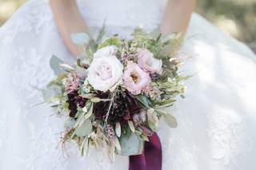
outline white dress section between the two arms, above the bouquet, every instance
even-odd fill
[[[92,31],[105,23],[107,34],[126,36],[138,26],[146,30],[158,27],[166,0],[80,0],[78,4]]]

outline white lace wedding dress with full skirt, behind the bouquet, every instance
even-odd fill
[[[165,0],[81,0],[79,8],[94,36],[106,21],[106,37],[129,37],[142,26],[154,30]],[[164,170],[256,169],[256,57],[250,49],[193,14],[183,51],[191,58],[182,71],[186,99],[169,111],[178,128],[164,123]],[[50,117],[42,89],[54,78],[52,54],[74,62],[58,34],[50,6],[31,0],[0,28],[0,169],[109,170],[128,169],[128,157],[114,164],[106,153],[90,149],[81,157],[74,144],[66,154],[59,144],[63,120]]]

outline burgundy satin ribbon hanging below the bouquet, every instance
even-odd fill
[[[130,156],[129,170],[162,170],[162,146],[157,133],[145,142],[144,152]]]

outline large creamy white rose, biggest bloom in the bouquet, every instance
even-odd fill
[[[115,56],[95,57],[88,69],[87,81],[94,89],[113,91],[122,82],[123,66]]]

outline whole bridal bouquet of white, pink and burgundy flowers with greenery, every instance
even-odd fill
[[[129,39],[114,35],[102,41],[103,33],[96,41],[72,35],[83,51],[75,65],[51,58],[58,77],[48,85],[54,89],[48,101],[66,117],[62,142],[74,140],[82,155],[91,146],[106,148],[111,158],[138,155],[160,118],[177,126],[163,110],[184,97],[187,77],[178,72],[182,39],[136,29]]]

